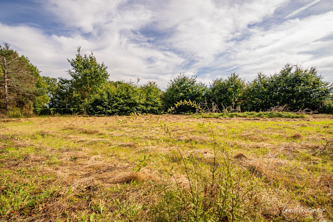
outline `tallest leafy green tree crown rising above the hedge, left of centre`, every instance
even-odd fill
[[[72,66],[67,72],[72,77],[71,86],[74,92],[78,94],[79,99],[87,101],[89,95],[93,95],[107,83],[108,67],[103,62],[102,64],[98,63],[93,52],[90,55],[81,55],[81,47],[77,50],[78,54],[76,54],[75,59],[67,59]]]

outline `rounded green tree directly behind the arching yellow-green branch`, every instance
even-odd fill
[[[184,73],[179,73],[178,76],[171,79],[167,85],[166,92],[163,95],[165,111],[178,101],[191,100],[202,101],[205,100],[207,87],[202,82],[196,81],[196,76],[188,77]],[[190,106],[182,106],[173,113],[194,113],[196,109]]]

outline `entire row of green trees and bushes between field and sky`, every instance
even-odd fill
[[[136,82],[109,80],[108,67],[99,63],[93,52],[81,54],[80,47],[77,51],[75,58],[68,59],[71,68],[67,74],[71,78],[51,78],[41,76],[27,57],[19,56],[7,43],[0,46],[2,112],[19,110],[25,115],[49,115],[52,108],[53,113],[91,116],[160,114],[180,100],[203,102],[213,110],[229,107],[237,111],[263,111],[284,105],[290,110],[317,110],[319,102],[330,98],[333,92],[332,84],[323,80],[316,67],[303,68],[291,63],[273,75],[259,72],[252,81],[232,73],[212,80],[209,85],[196,76],[179,73],[163,91],[155,81],[141,84],[139,78]],[[324,105],[327,112],[333,111],[331,103]],[[172,112],[195,111],[182,106]]]

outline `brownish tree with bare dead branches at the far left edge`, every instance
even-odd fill
[[[33,107],[47,102],[46,85],[38,68],[27,57],[19,56],[7,43],[0,46],[0,70],[6,112],[9,106],[30,112]]]

